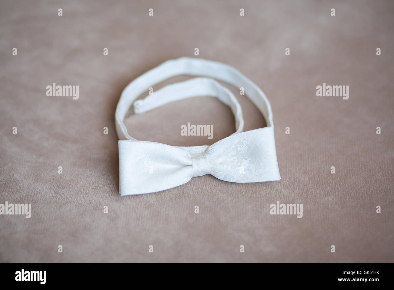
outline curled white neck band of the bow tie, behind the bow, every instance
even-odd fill
[[[148,95],[145,99],[134,102],[139,95],[146,92],[148,88],[178,75],[202,76],[178,82],[176,84],[167,85],[157,90],[152,95]],[[220,101],[229,105],[235,120],[237,131],[243,130],[243,118],[241,107],[232,93],[218,82],[212,79],[227,82],[237,89],[244,89],[245,94],[256,105],[263,114],[267,122],[267,127],[273,127],[273,116],[271,105],[266,95],[251,80],[245,77],[238,70],[230,65],[213,62],[210,60],[182,57],[176,60],[168,60],[163,64],[147,71],[143,75],[134,79],[123,90],[119,103],[115,112],[115,125],[119,139],[136,140],[127,133],[127,129],[123,120],[134,102],[134,112],[136,114],[152,110],[169,102],[177,101],[187,97],[198,95],[210,95],[217,97]],[[178,91],[177,91],[178,90]],[[136,140],[137,141],[137,140]],[[190,148],[199,148],[206,146],[195,146]],[[182,147],[185,148],[185,147]]]

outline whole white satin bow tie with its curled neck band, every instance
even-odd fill
[[[166,103],[209,95],[228,105],[237,131],[211,146],[178,147],[130,137],[123,120],[133,101],[149,87],[177,75],[205,76],[170,84],[145,99],[134,102],[141,114]],[[209,78],[206,78],[209,77]],[[213,79],[244,88],[266,119],[267,127],[243,130],[242,109],[234,95]],[[119,192],[136,195],[163,191],[191,178],[212,174],[231,182],[280,180],[273,132],[271,105],[264,93],[242,73],[226,64],[196,58],[178,58],[144,73],[126,86],[115,113],[119,139]]]

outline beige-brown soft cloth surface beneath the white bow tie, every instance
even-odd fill
[[[31,203],[32,217],[0,215],[0,261],[394,262],[393,13],[392,1],[1,1],[0,203]],[[119,96],[181,56],[232,65],[266,93],[280,181],[206,175],[119,196]],[[79,99],[47,97],[54,82],[79,85]],[[323,82],[349,85],[349,99],[317,97]],[[233,91],[245,131],[263,127]],[[132,137],[178,146],[235,131],[230,109],[204,96],[125,122]],[[187,122],[214,125],[214,138],[181,136]],[[270,215],[277,201],[302,203],[303,217]]]

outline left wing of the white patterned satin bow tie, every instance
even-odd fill
[[[193,177],[191,157],[181,148],[156,142],[119,140],[119,192],[152,193]]]

